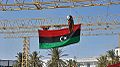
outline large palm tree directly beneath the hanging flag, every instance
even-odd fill
[[[67,54],[63,54],[62,49],[53,48],[50,50],[51,59],[47,62],[48,67],[65,67],[66,63],[60,59],[63,56],[67,56]]]

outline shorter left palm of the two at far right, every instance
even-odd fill
[[[99,58],[97,58],[97,60],[98,60],[98,67],[107,67],[108,65],[107,55],[100,56]]]

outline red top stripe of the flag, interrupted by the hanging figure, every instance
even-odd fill
[[[80,24],[74,25],[74,31],[80,29]],[[56,37],[69,34],[69,28],[60,29],[60,30],[38,30],[40,37]]]

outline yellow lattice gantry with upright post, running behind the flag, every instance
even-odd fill
[[[117,18],[112,19],[111,18]],[[111,16],[109,19],[103,17],[78,16],[74,18],[76,24],[81,24],[81,36],[118,35],[120,32],[120,16]],[[89,20],[81,22],[84,20]],[[94,19],[94,20],[93,20]],[[52,20],[52,21],[51,21]],[[55,21],[54,21],[55,20]],[[57,24],[55,23],[57,22]],[[61,23],[63,22],[63,23]],[[49,24],[49,25],[48,25]],[[3,38],[23,38],[22,67],[29,66],[29,39],[38,37],[38,29],[43,26],[50,28],[67,27],[65,18],[24,18],[13,20],[0,20],[0,37]]]

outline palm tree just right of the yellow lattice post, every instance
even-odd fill
[[[42,67],[43,61],[40,60],[42,56],[38,56],[38,53],[34,51],[30,54],[30,66],[31,67]]]

